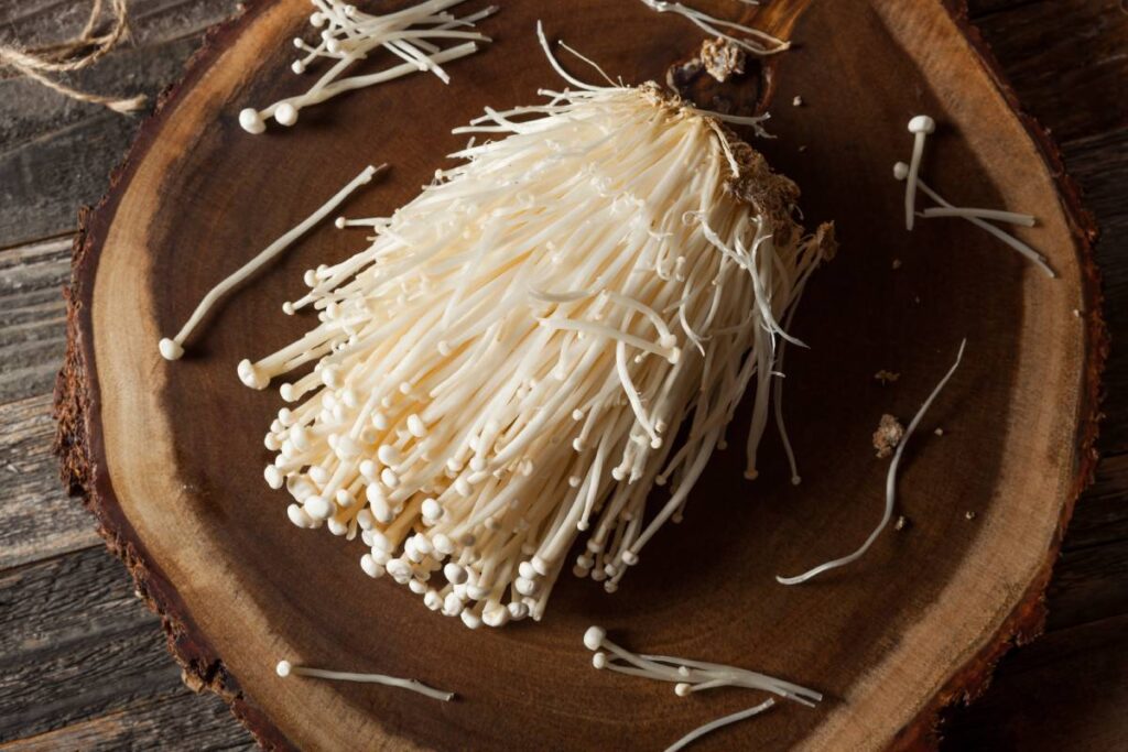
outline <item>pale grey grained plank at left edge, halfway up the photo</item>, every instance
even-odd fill
[[[54,386],[67,347],[70,248],[62,238],[0,250],[0,404]]]

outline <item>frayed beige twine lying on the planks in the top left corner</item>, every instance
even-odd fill
[[[0,67],[8,67],[24,76],[34,79],[59,94],[96,105],[104,105],[117,113],[131,113],[144,107],[146,96],[118,98],[104,97],[97,94],[79,91],[60,83],[51,73],[67,73],[82,70],[100,60],[113,50],[118,42],[129,36],[130,23],[125,10],[125,0],[111,0],[114,23],[104,34],[96,34],[98,18],[102,16],[103,0],[94,0],[90,17],[78,36],[34,48],[19,48],[0,45]]]

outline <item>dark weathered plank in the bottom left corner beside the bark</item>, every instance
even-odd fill
[[[175,708],[161,707],[170,702]],[[68,732],[39,741],[59,749],[52,740],[69,746],[68,738],[94,735],[107,749],[115,738],[152,746],[176,738],[175,727],[160,727],[171,715],[183,716],[178,728],[197,727],[199,744],[182,749],[248,741],[218,702],[190,697],[158,618],[100,548],[0,575],[0,742],[78,723],[77,737]],[[91,728],[90,719],[104,722]],[[107,728],[114,725],[122,728]]]

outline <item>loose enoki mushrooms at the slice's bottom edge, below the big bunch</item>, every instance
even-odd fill
[[[673,692],[678,697],[689,697],[694,692],[721,687],[739,687],[770,692],[783,699],[812,708],[816,702],[822,700],[822,695],[814,690],[768,676],[767,674],[748,671],[747,669],[677,658],[668,655],[637,655],[609,640],[607,638],[607,630],[602,627],[589,627],[588,631],[583,635],[583,644],[584,647],[593,653],[591,664],[596,669],[615,671],[628,676],[671,682],[673,684]],[[741,710],[740,713],[734,713],[699,726],[669,746],[667,752],[680,750],[710,732],[758,715],[770,708],[774,704],[775,700],[769,698],[767,701],[747,710]]]

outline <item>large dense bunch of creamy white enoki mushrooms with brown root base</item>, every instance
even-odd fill
[[[713,116],[570,80],[459,129],[501,140],[391,216],[338,221],[371,245],[283,307],[318,326],[239,365],[262,389],[316,364],[265,439],[290,520],[359,532],[364,572],[472,628],[539,618],[580,532],[574,573],[614,591],[747,391],[755,477],[779,322],[832,249]]]

